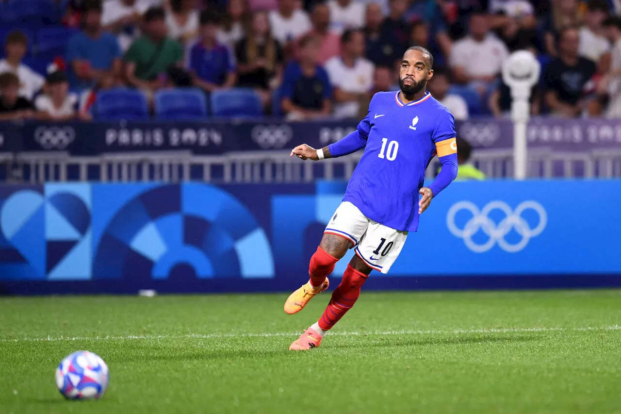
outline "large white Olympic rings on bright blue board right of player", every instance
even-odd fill
[[[505,218],[498,224],[489,218],[489,213],[496,209],[505,214]],[[522,213],[528,209],[535,211],[539,217],[538,224],[535,228],[530,228],[527,221],[522,218]],[[472,218],[466,222],[463,229],[458,228],[455,224],[455,215],[461,210],[469,211],[469,213],[472,214]],[[509,205],[504,201],[491,201],[481,211],[470,201],[460,201],[451,206],[446,214],[446,226],[448,226],[448,230],[453,236],[463,239],[466,247],[475,253],[487,252],[494,247],[496,243],[502,250],[508,253],[522,251],[532,237],[536,237],[542,233],[547,223],[548,215],[545,209],[542,205],[537,203],[537,201],[532,200],[520,203],[520,205],[515,208],[515,211],[512,211]],[[483,231],[486,236],[489,237],[489,240],[483,244],[478,244],[473,240],[474,234],[479,230]],[[511,244],[505,240],[505,236],[512,230],[515,230],[517,234],[522,237],[522,239],[515,244]]]

